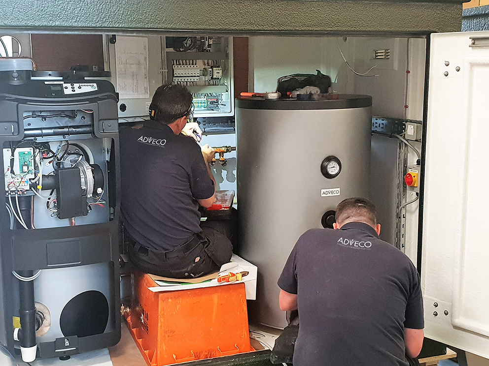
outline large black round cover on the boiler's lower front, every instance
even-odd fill
[[[100,291],[85,291],[65,305],[60,316],[63,336],[102,334],[108,322],[108,302]]]

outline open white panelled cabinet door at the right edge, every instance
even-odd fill
[[[425,335],[489,358],[489,32],[431,40]]]

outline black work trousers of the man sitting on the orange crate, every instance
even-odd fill
[[[233,245],[226,236],[232,233],[222,222],[204,221],[201,227],[201,233],[192,235],[173,250],[146,248],[127,232],[124,232],[124,246],[131,262],[141,272],[180,279],[201,277],[219,271],[233,255]]]

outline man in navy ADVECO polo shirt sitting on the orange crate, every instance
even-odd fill
[[[143,272],[193,278],[231,259],[231,233],[219,232],[215,221],[200,225],[199,205],[210,207],[215,197],[208,165],[214,151],[196,143],[202,131],[187,123],[192,112],[185,87],[161,86],[149,106],[151,120],[120,127],[124,241]]]

